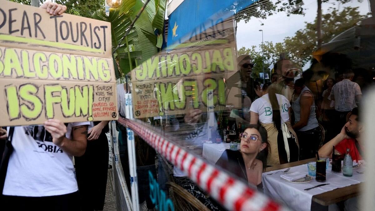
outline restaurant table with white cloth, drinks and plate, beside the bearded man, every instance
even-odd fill
[[[285,170],[287,169],[288,167],[296,167],[296,166],[300,166],[300,165],[303,165],[305,164],[303,167],[302,167],[302,170],[305,170],[306,174],[308,174],[308,169],[307,169],[307,163],[308,162],[311,162],[311,161],[316,161],[316,158],[311,158],[311,159],[308,159],[308,160],[302,160],[302,161],[297,161],[297,162],[293,162],[293,163],[287,163],[287,164],[281,164],[281,165],[277,165],[277,166],[272,166],[272,167],[267,167],[266,168],[266,172],[272,172],[272,171],[275,171],[275,170]],[[301,170],[301,168],[300,168]],[[300,204],[303,204],[305,205],[305,209],[303,210],[310,210],[310,209],[306,209],[306,207],[311,207],[312,205],[314,205],[315,203],[317,203],[318,205],[321,205],[321,206],[328,206],[328,205],[331,205],[333,203],[338,203],[338,202],[341,202],[343,200],[347,200],[347,199],[350,199],[352,197],[355,197],[355,196],[358,196],[359,195],[359,189],[360,189],[360,184],[363,182],[363,175],[357,173],[358,172],[363,172],[363,167],[360,167],[358,169],[353,169],[353,177],[344,177],[342,175],[342,172],[341,173],[332,173],[331,172],[331,166],[329,166],[329,168],[327,169],[327,181],[326,182],[316,182],[315,181],[315,177],[313,177],[313,181],[309,182],[309,183],[305,183],[305,184],[294,184],[294,183],[291,183],[291,182],[287,182],[287,181],[284,181],[280,178],[280,175],[281,173],[276,173],[275,175],[267,175],[267,173],[264,173],[263,176],[262,176],[262,181],[264,181],[264,177],[266,177],[266,180],[267,182],[269,182],[269,180],[273,181],[273,182],[277,182],[278,185],[280,185],[282,183],[282,186],[284,188],[290,188],[290,190],[293,190],[297,187],[297,185],[300,186],[300,190],[294,190],[294,191],[300,191],[300,194],[307,194],[309,193],[314,193],[314,192],[319,192],[318,194],[314,194],[312,196],[312,199],[311,201],[309,202],[297,202],[297,203],[300,203]],[[293,168],[288,172],[293,172]],[[267,178],[269,176],[272,176],[272,178]],[[331,177],[331,179],[330,179]],[[318,188],[314,188],[312,190],[309,190],[309,191],[304,191],[303,189],[304,188],[307,188],[306,184],[309,184],[309,187],[312,187],[314,185],[318,185],[318,184],[324,184],[324,183],[331,183],[334,182],[334,180],[336,180],[337,178],[342,178],[343,181],[348,181],[346,184],[352,184],[352,185],[348,185],[346,187],[339,187],[339,188],[336,188],[334,190],[329,190],[329,191],[325,191],[327,189],[330,189],[329,187],[331,186],[334,186],[335,184],[332,184],[332,185],[325,185],[325,186],[322,186],[322,187],[318,187]],[[263,182],[263,185],[264,185],[264,191],[265,193],[268,192],[268,187],[267,186],[267,182],[265,184],[265,182]],[[330,184],[331,184],[330,183]],[[353,184],[355,183],[355,184]],[[314,184],[314,185],[312,185]],[[345,184],[345,182],[343,183]],[[337,184],[336,184],[337,185]],[[302,188],[302,186],[304,186],[304,188]],[[306,187],[305,187],[306,186]],[[317,189],[317,190],[316,190]],[[272,193],[270,193],[272,195]],[[275,194],[274,197],[278,198],[276,196],[277,194]],[[288,194],[289,195],[289,194]],[[285,197],[286,195],[282,195],[283,197]],[[279,198],[279,200],[281,200]],[[284,198],[284,202],[285,202],[285,199]],[[298,200],[298,198],[294,198],[294,200]],[[312,203],[313,202],[313,203]],[[286,203],[287,206],[291,206],[291,203],[293,202],[290,202],[290,203]],[[293,208],[293,207],[291,207]],[[296,209],[296,208],[294,208]],[[298,209],[298,210],[301,210],[301,209]]]

